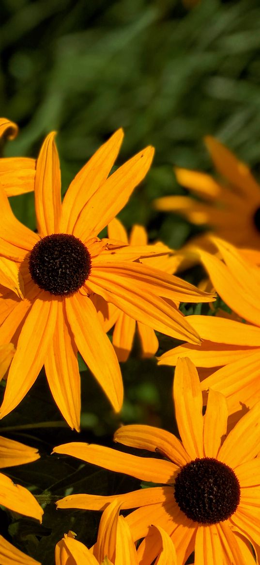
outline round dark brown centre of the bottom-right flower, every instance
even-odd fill
[[[230,467],[205,457],[184,465],[176,477],[174,497],[187,518],[202,524],[216,524],[236,511],[240,485]]]

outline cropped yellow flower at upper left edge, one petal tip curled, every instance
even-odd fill
[[[18,133],[17,125],[0,118],[0,138],[13,140]],[[34,190],[35,159],[28,157],[3,157],[0,159],[0,182],[7,196],[16,196]]]

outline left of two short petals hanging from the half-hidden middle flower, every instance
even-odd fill
[[[129,358],[135,334],[135,320],[120,312],[113,331],[113,346],[118,361],[124,362]]]

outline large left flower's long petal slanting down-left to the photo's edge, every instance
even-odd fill
[[[39,324],[39,320],[41,323]],[[21,329],[17,350],[7,377],[1,418],[14,410],[25,397],[45,362],[56,323],[56,301],[38,298]]]

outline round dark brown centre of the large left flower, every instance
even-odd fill
[[[89,278],[91,258],[87,247],[67,233],[53,233],[34,245],[29,257],[33,281],[55,295],[77,292]]]

